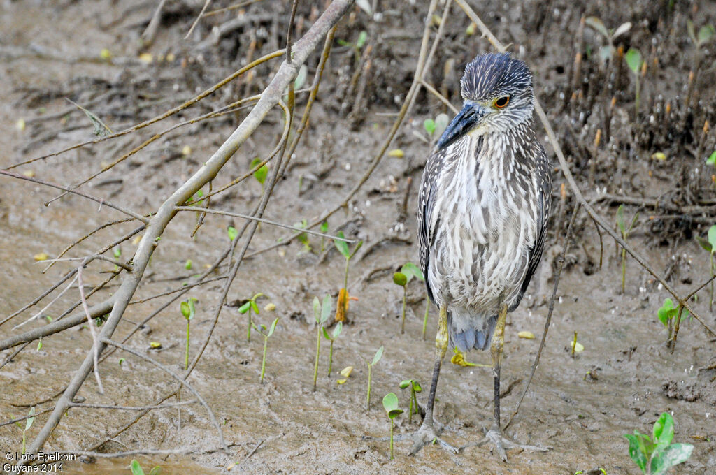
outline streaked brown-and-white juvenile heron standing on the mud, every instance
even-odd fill
[[[505,448],[516,444],[503,439],[500,428],[505,318],[519,305],[542,257],[552,184],[533,129],[526,64],[506,53],[483,54],[465,67],[460,84],[464,107],[437,141],[420,185],[420,265],[440,318],[425,418],[411,454],[440,441],[432,407],[448,346],[468,351],[489,344],[495,413],[483,441],[492,442],[506,461]]]

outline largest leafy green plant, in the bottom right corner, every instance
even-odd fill
[[[652,437],[639,434],[625,434],[629,441],[629,457],[634,464],[647,475],[663,475],[672,466],[687,461],[694,450],[691,444],[672,444],[674,439],[674,419],[664,412],[654,423]]]

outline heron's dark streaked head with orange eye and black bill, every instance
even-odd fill
[[[460,80],[463,109],[437,141],[448,147],[465,134],[506,132],[532,117],[532,74],[508,53],[481,54],[465,66]]]

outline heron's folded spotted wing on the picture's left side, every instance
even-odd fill
[[[440,220],[437,217],[432,222],[432,210],[435,207],[435,194],[437,193],[437,180],[439,178],[440,166],[445,162],[445,148],[435,150],[425,163],[425,170],[422,172],[422,182],[420,182],[420,195],[418,196],[417,205],[417,240],[420,245],[420,268],[425,275],[425,285],[427,286],[427,296],[433,302],[433,289],[430,288],[430,249],[432,248],[435,238],[435,228]]]

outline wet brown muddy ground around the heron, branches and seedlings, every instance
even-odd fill
[[[291,157],[284,180],[271,197],[266,216],[292,224],[318,217],[342,202],[367,170],[392,126],[410,87],[420,49],[427,4],[422,1],[377,1],[378,16],[371,18],[358,7],[337,30],[311,124]],[[427,2],[425,2],[427,3]],[[439,2],[440,3],[440,2]],[[710,275],[708,253],[695,241],[716,222],[716,195],[705,158],[715,147],[712,132],[703,132],[705,120],[714,123],[716,81],[714,42],[698,54],[687,34],[687,19],[697,30],[716,22],[716,6],[708,1],[487,1],[470,2],[488,26],[512,51],[525,59],[534,74],[536,94],[553,120],[563,150],[585,195],[602,216],[614,222],[616,207],[627,203],[626,215],[639,212],[629,240],[647,255],[659,273],[682,295],[690,293]],[[671,4],[672,5],[671,5]],[[258,1],[239,10],[224,11],[199,21],[188,39],[183,36],[199,14],[203,2],[170,1],[165,6],[153,44],[142,46],[156,1],[41,1],[2,0],[0,8],[0,167],[39,157],[95,137],[92,124],[65,98],[91,110],[113,130],[154,117],[207,89],[223,77],[279,49],[285,41],[289,5],[285,1]],[[301,36],[324,2],[300,2],[296,36]],[[229,6],[212,2],[209,10]],[[442,3],[438,14],[442,15]],[[213,27],[236,16],[238,29],[214,41]],[[634,78],[623,60],[609,69],[599,62],[599,46],[606,42],[593,29],[580,33],[579,19],[596,15],[610,29],[632,21],[632,29],[616,39],[615,46],[641,49],[647,59],[642,77],[639,114],[634,118]],[[433,34],[440,19],[434,19]],[[467,30],[470,21],[457,6],[447,16],[445,37],[435,55],[427,81],[460,105],[458,80],[465,62],[490,50],[479,33]],[[359,49],[360,32],[367,40]],[[252,42],[253,41],[253,42]],[[366,53],[366,49],[371,51]],[[107,49],[110,59],[102,59]],[[574,55],[584,56],[576,77]],[[140,57],[141,54],[151,57]],[[615,53],[618,57],[619,53]],[[106,56],[106,55],[105,55]],[[142,62],[141,59],[146,61]],[[309,81],[318,52],[308,62]],[[149,64],[147,64],[147,62]],[[180,120],[228,104],[238,97],[258,94],[279,66],[261,65],[200,102],[153,126],[120,139],[33,162],[19,172],[41,180],[70,185],[97,172],[153,133]],[[697,71],[690,85],[690,70]],[[359,72],[359,74],[356,74]],[[302,112],[306,95],[299,94]],[[610,106],[611,98],[616,98]],[[327,346],[323,342],[317,390],[311,391],[316,327],[311,300],[342,286],[344,259],[332,243],[309,237],[310,250],[292,242],[246,260],[228,294],[211,343],[189,382],[203,395],[221,422],[231,448],[216,451],[218,437],[202,406],[193,404],[153,411],[129,429],[117,431],[135,417],[128,411],[72,408],[62,418],[46,451],[100,451],[114,453],[142,449],[186,449],[193,454],[137,456],[148,469],[163,467],[165,474],[574,474],[603,467],[607,474],[637,474],[629,460],[623,434],[634,429],[649,433],[659,414],[669,411],[676,421],[675,440],[694,444],[692,457],[674,469],[679,474],[716,473],[716,343],[696,320],[683,321],[676,350],[665,346],[667,333],[657,309],[669,295],[652,275],[627,260],[626,292],[621,293],[619,249],[604,238],[604,263],[599,268],[599,235],[585,215],[576,221],[576,240],[567,253],[566,270],[546,348],[531,388],[507,434],[525,444],[550,447],[545,453],[509,451],[503,464],[486,447],[470,446],[481,439],[492,413],[492,378],[489,368],[460,367],[446,363],[437,393],[436,417],[448,423],[445,439],[466,446],[448,454],[428,446],[408,457],[409,441],[396,443],[395,459],[387,456],[387,442],[366,439],[387,434],[388,420],[380,400],[395,392],[407,408],[400,381],[414,378],[426,391],[432,371],[432,335],[437,320],[433,308],[428,337],[422,339],[424,290],[409,285],[405,334],[400,333],[402,291],[392,283],[392,272],[417,263],[415,207],[417,182],[430,145],[423,120],[448,112],[435,97],[421,92],[391,149],[402,158],[384,157],[349,207],[329,218],[329,232],[343,230],[364,241],[349,275],[349,324],[334,346],[333,374],[326,375]],[[246,110],[176,129],[137,155],[84,185],[82,190],[121,203],[137,212],[152,212],[221,145]],[[24,127],[18,122],[24,121]],[[266,157],[283,127],[281,114],[269,114],[254,137],[224,167],[215,187],[249,170],[253,157]],[[607,130],[607,128],[609,130]],[[596,130],[601,142],[594,145]],[[546,141],[545,141],[546,142]],[[190,147],[190,150],[185,149]],[[548,149],[551,154],[551,150]],[[662,152],[665,160],[654,159]],[[553,157],[553,163],[556,159]],[[596,166],[591,167],[590,160]],[[593,175],[592,175],[593,174]],[[573,198],[555,168],[555,195],[545,260],[523,304],[508,317],[503,363],[503,417],[507,418],[522,391],[538,349],[538,339],[518,338],[518,331],[541,335],[553,285],[553,269],[561,252]],[[412,186],[409,185],[412,180]],[[216,189],[216,188],[215,188]],[[407,210],[402,212],[407,193]],[[223,210],[249,212],[258,202],[261,186],[243,182],[218,195],[211,205]],[[60,262],[42,274],[34,263],[38,253],[57,255],[98,225],[121,219],[119,212],[78,197],[57,196],[57,190],[37,183],[1,178],[0,261],[3,265],[0,318],[35,298],[72,263]],[[619,197],[622,197],[620,200]],[[629,197],[629,199],[623,198]],[[658,207],[649,200],[659,198]],[[195,273],[213,263],[228,245],[226,228],[241,225],[231,218],[208,216],[197,235],[192,214],[180,215],[164,233],[135,298],[147,298],[180,288]],[[105,243],[133,229],[123,223],[103,230],[70,251],[70,257],[93,253]],[[262,225],[249,253],[274,245],[290,232]],[[120,246],[126,260],[135,244]],[[107,255],[112,255],[108,252]],[[192,260],[191,270],[185,269]],[[113,270],[110,263],[93,263],[85,270],[86,285],[97,285]],[[219,273],[226,272],[221,268]],[[112,287],[114,285],[114,287]],[[90,299],[99,301],[116,288],[116,281]],[[187,294],[198,299],[192,323],[191,354],[206,337],[210,315],[218,305],[223,281],[215,281]],[[64,288],[64,287],[63,287]],[[269,324],[279,317],[269,341],[266,381],[258,382],[262,342],[256,332],[246,341],[246,315],[238,312],[243,301],[261,292],[258,315]],[[51,298],[57,295],[52,294]],[[712,327],[708,288],[697,295],[695,309]],[[79,298],[77,288],[59,298],[42,315],[56,318]],[[115,340],[120,340],[170,296],[130,305]],[[0,338],[44,325],[36,320],[19,329],[49,303],[43,300],[9,323],[0,325]],[[273,313],[263,310],[274,303]],[[578,333],[584,351],[571,357],[569,343]],[[179,304],[171,303],[129,341],[178,373],[183,371],[185,320]],[[150,349],[158,342],[159,349]],[[67,384],[92,346],[89,331],[72,328],[44,338],[42,348],[31,343],[0,369],[0,419],[9,421],[27,413],[52,408],[52,398]],[[380,346],[385,352],[373,370],[372,405],[365,408],[367,367]],[[16,349],[16,348],[15,348]],[[13,350],[14,351],[14,350]],[[6,361],[10,351],[0,353]],[[120,363],[120,358],[125,358]],[[470,353],[468,361],[489,363],[488,353]],[[355,369],[339,385],[337,371]],[[162,371],[135,356],[112,353],[100,365],[105,387],[97,391],[88,378],[79,391],[84,402],[120,406],[156,403],[175,390],[175,382]],[[183,400],[191,396],[183,391]],[[40,402],[42,401],[42,402]],[[176,401],[171,398],[168,402]],[[39,415],[27,431],[37,436],[47,414]],[[24,424],[24,423],[23,423]],[[407,417],[397,418],[397,434],[417,430]],[[0,426],[0,452],[19,451],[22,431],[15,424]],[[258,449],[256,449],[257,445]],[[2,455],[0,455],[2,456]],[[247,458],[248,457],[248,458]],[[105,459],[78,457],[64,464],[63,474],[128,474],[132,456]],[[1,460],[5,462],[5,460]],[[0,468],[2,468],[0,466]],[[148,472],[148,470],[147,470]],[[55,473],[55,472],[47,472]]]

